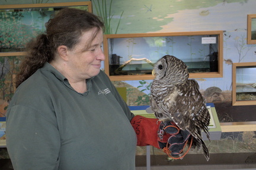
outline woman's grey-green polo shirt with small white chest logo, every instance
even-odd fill
[[[87,88],[49,63],[18,87],[6,128],[14,169],[135,169],[134,115],[103,71]]]

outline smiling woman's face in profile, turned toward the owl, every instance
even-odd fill
[[[80,41],[72,50],[68,50],[68,68],[72,79],[85,80],[100,73],[101,61],[105,60],[103,50],[103,32],[99,31],[88,48],[88,42],[95,34],[97,28],[84,32]]]

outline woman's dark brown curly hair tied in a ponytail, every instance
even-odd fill
[[[104,30],[104,23],[99,17],[75,8],[61,9],[45,25],[46,32],[37,35],[27,44],[27,53],[16,76],[16,87],[43,67],[44,63],[50,63],[55,58],[57,47],[60,45],[72,49],[79,42],[83,32],[97,28],[98,31],[92,36],[93,40],[99,31]]]

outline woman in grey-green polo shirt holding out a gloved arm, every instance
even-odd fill
[[[14,169],[130,170],[136,144],[159,148],[157,119],[134,116],[100,70],[103,30],[95,15],[65,8],[28,44],[7,112]]]

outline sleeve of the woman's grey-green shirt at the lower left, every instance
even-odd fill
[[[36,110],[15,105],[8,109],[6,134],[14,169],[58,169],[57,123]]]

